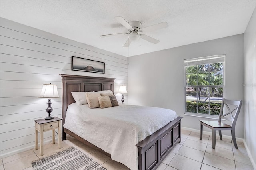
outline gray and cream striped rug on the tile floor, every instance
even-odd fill
[[[74,147],[35,160],[31,164],[34,170],[106,170]]]

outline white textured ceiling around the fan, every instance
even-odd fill
[[[3,1],[1,17],[123,56],[133,56],[191,43],[244,33],[256,6],[241,1]],[[124,48],[128,35],[101,38],[102,34],[127,32],[115,20],[140,21],[142,27],[168,22],[169,27],[144,34],[160,40],[141,39]],[[139,45],[141,46],[139,47]]]

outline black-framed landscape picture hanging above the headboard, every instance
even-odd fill
[[[105,63],[72,56],[72,70],[92,73],[105,73]]]

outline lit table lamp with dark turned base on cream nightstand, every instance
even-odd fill
[[[46,117],[45,119],[53,119],[53,117],[51,116],[51,112],[52,112],[52,102],[50,98],[58,98],[58,89],[57,89],[57,85],[52,85],[50,84],[44,84],[42,91],[39,95],[39,97],[44,97],[44,98],[49,98],[48,99],[48,107],[45,109],[46,112],[48,113],[48,117]]]

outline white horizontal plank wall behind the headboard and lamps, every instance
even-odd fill
[[[0,22],[1,158],[34,148],[33,120],[47,116],[47,99],[38,98],[43,84],[58,86],[60,98],[52,99],[52,115],[62,116],[59,74],[116,78],[115,92],[120,85],[127,86],[127,57],[4,18]],[[105,74],[72,71],[71,56],[105,62]],[[120,101],[121,94],[116,96]],[[127,95],[125,99],[127,103]],[[45,132],[44,142],[49,143],[50,136],[51,132]]]

